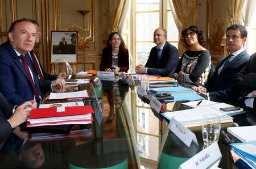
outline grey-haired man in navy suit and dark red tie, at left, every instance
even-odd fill
[[[30,19],[19,19],[11,24],[8,37],[9,40],[0,45],[0,91],[9,104],[40,102],[38,78],[24,57],[34,48],[36,28]]]

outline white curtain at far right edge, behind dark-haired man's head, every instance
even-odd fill
[[[247,29],[247,40],[245,43],[245,50],[247,51],[247,53],[249,54],[253,54],[255,51],[254,49],[252,49],[251,45],[253,41],[255,41],[254,37],[251,37],[251,30],[250,30],[250,23],[251,23],[251,19],[253,18],[254,12],[255,12],[255,7],[256,7],[256,1],[250,1],[250,0],[246,0],[245,1],[245,5],[243,5],[243,9],[242,9],[242,19],[244,22],[244,26]]]

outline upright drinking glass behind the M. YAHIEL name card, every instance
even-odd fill
[[[218,141],[218,137],[220,137],[220,128],[220,117],[218,115],[204,115],[202,125],[204,147],[207,147],[213,142]]]

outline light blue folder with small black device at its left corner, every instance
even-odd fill
[[[202,96],[197,95],[195,92],[172,93],[173,100],[164,100],[164,102],[175,102],[183,100],[205,100]]]

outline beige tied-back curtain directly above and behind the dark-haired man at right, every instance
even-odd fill
[[[231,24],[242,24],[242,7],[244,0],[228,0],[228,11],[230,21],[227,20],[226,27],[229,27]],[[228,49],[226,48],[226,33],[222,37],[221,45],[224,47],[224,56],[228,55]]]

